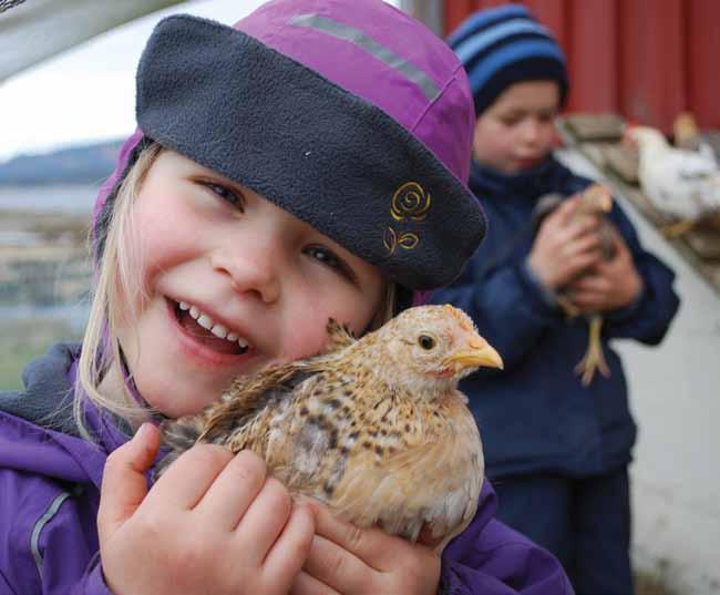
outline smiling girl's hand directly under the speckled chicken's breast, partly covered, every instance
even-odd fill
[[[379,529],[358,529],[312,504],[316,535],[291,595],[434,595],[440,556]],[[431,544],[436,545],[436,544]]]

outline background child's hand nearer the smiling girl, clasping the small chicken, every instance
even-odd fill
[[[548,289],[559,289],[601,259],[597,217],[574,217],[579,197],[568,198],[541,224],[527,258]]]

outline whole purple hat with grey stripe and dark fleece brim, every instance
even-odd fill
[[[485,234],[466,187],[475,120],[455,54],[381,0],[275,0],[234,28],[155,28],[140,126],[101,193],[153,140],[309,223],[402,287],[452,281]]]

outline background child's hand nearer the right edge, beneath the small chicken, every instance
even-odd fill
[[[572,302],[582,314],[616,310],[630,304],[642,288],[632,255],[617,232],[613,233],[615,257],[600,260],[587,275],[570,285]]]

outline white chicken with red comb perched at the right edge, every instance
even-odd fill
[[[652,206],[675,219],[662,229],[667,236],[680,236],[700,219],[720,214],[720,168],[709,146],[677,148],[649,126],[632,126],[625,134],[638,147],[642,192]]]

